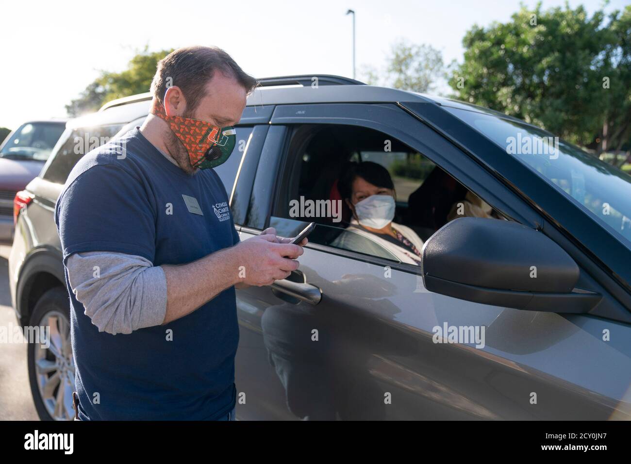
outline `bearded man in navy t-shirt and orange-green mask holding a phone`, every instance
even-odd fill
[[[69,175],[55,216],[77,419],[234,417],[235,286],[285,278],[302,254],[273,229],[240,242],[211,169],[255,85],[220,49],[174,51],[143,126]]]

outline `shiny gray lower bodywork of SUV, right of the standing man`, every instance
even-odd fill
[[[309,247],[300,271],[321,288],[320,304],[291,304],[269,287],[237,292],[245,419],[625,415],[620,386],[631,365],[619,348],[628,346],[599,342],[596,319],[432,294],[411,273],[384,277],[383,266]],[[485,346],[434,343],[434,328],[444,323],[485,326]],[[617,336],[627,329],[608,325]]]

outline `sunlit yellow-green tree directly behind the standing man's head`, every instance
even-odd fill
[[[145,47],[129,61],[124,71],[101,71],[100,76],[81,92],[79,98],[66,105],[68,115],[80,116],[98,110],[103,104],[115,98],[149,92],[158,61],[172,51],[173,49],[149,52]]]

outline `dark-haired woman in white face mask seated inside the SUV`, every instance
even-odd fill
[[[421,264],[423,241],[410,227],[392,222],[396,192],[386,168],[369,161],[350,163],[339,178],[338,191],[352,218],[333,246]]]

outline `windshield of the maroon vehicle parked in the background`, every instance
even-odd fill
[[[4,143],[0,150],[0,157],[45,161],[61,137],[64,128],[65,124],[55,122],[22,124]]]

